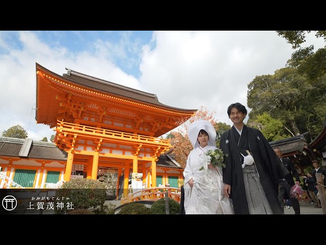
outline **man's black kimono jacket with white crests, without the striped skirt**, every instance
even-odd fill
[[[241,167],[243,157],[240,154],[241,152],[243,156],[247,156],[246,150],[251,152],[255,160],[261,185],[273,213],[282,214],[278,200],[278,182],[288,174],[288,171],[263,134],[257,129],[243,125],[240,138],[233,126],[222,135],[220,148],[224,154],[228,154],[227,157],[225,156],[226,167],[223,168],[223,182],[231,185],[230,198],[232,198],[235,214],[249,214]]]

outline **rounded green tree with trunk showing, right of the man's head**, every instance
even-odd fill
[[[247,103],[253,108],[250,117],[265,111],[274,118],[287,122],[292,135],[301,132],[295,119],[298,117],[300,103],[307,100],[312,86],[296,68],[287,67],[275,71],[275,75],[257,76],[249,85]]]

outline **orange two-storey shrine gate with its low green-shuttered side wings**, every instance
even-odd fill
[[[117,182],[123,180],[124,196],[131,173],[143,174],[145,188],[178,185],[183,168],[169,156],[169,140],[160,136],[197,109],[167,106],[155,94],[66,69],[60,76],[36,63],[36,122],[56,131],[54,143],[0,138],[6,177],[0,188],[8,187],[8,180],[45,188],[76,173],[93,180],[114,173]]]

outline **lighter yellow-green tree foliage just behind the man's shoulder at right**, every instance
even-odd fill
[[[254,121],[257,124],[252,127],[259,129],[268,142],[290,137],[290,135],[284,133],[281,120],[272,118],[267,112],[258,115]]]

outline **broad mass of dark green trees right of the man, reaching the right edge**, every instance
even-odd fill
[[[323,127],[326,111],[326,77],[311,83],[297,68],[286,67],[274,75],[257,76],[249,85],[247,104],[250,118],[267,112],[283,122],[292,136],[309,132],[310,140]]]

